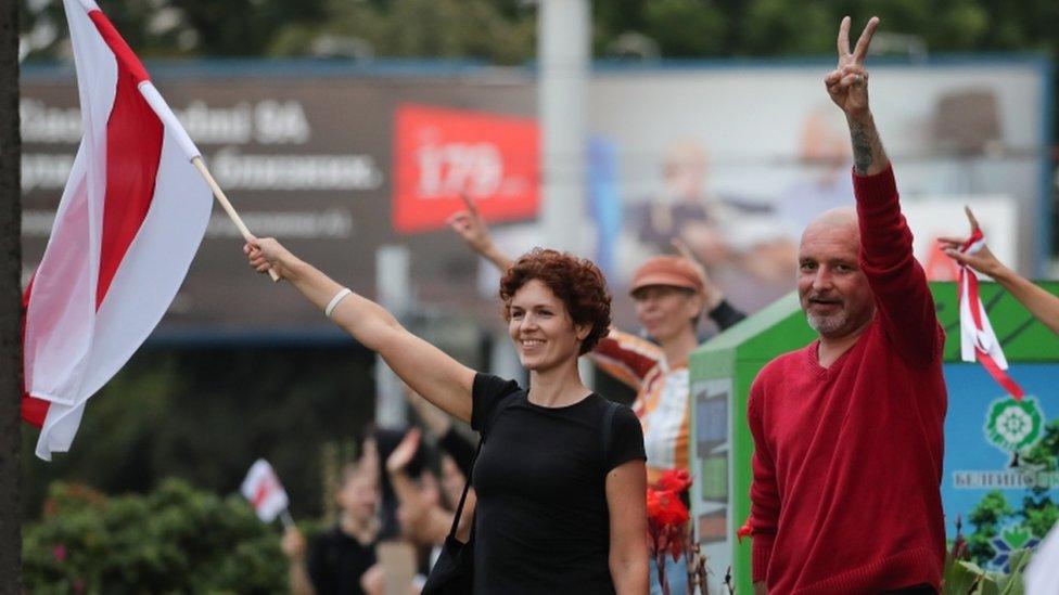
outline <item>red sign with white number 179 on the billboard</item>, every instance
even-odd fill
[[[394,125],[394,230],[445,227],[463,208],[461,192],[488,221],[535,217],[538,139],[530,118],[400,105]]]

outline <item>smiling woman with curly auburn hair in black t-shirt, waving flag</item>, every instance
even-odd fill
[[[500,299],[530,371],[524,390],[446,355],[275,240],[251,240],[244,250],[254,269],[294,285],[412,390],[482,432],[475,592],[647,593],[640,425],[577,371],[577,358],[610,326],[610,295],[595,264],[537,248],[505,272]]]

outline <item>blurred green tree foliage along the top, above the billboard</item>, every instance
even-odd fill
[[[40,57],[64,49],[62,2],[20,0]],[[101,0],[146,56],[469,57],[518,64],[535,54],[536,3],[526,0]],[[881,46],[902,52],[1059,51],[1050,0],[607,0],[592,2],[597,56],[622,36],[662,57],[830,54],[843,15],[884,23]],[[53,29],[48,35],[42,29]],[[36,39],[35,39],[36,36]]]

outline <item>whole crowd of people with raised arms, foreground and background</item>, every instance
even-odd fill
[[[869,21],[851,49],[851,23],[842,21],[838,66],[824,81],[849,125],[856,207],[812,219],[791,262],[817,338],[766,365],[751,389],[748,525],[758,593],[942,588],[945,335],[869,108],[865,56],[878,23]],[[643,334],[624,333],[611,324],[611,295],[591,261],[543,248],[511,258],[470,202],[449,223],[502,274],[498,295],[527,387],[464,366],[275,240],[245,247],[255,270],[277,273],[382,355],[446,453],[437,479],[422,464],[420,430],[367,440],[343,474],[336,526],[309,547],[296,530],[283,539],[293,591],[381,592],[388,579],[373,545],[399,534],[423,552],[421,577],[408,584],[414,592],[469,478],[458,536],[473,543],[474,592],[656,590],[645,493],[664,471],[690,470],[688,360],[701,319],[725,329],[743,313],[693,258],[662,255],[629,287]],[[1059,333],[1059,298],[986,247],[943,244]],[[586,386],[580,355],[634,388],[633,406]],[[452,421],[479,434],[477,451]],[[688,571],[679,561],[662,570],[673,593]]]

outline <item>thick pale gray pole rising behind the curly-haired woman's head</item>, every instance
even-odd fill
[[[590,9],[589,0],[540,0],[537,16],[541,241],[575,253],[585,248]]]

